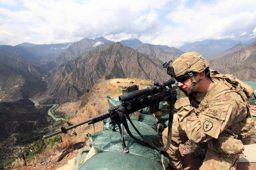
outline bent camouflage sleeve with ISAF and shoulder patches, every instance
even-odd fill
[[[181,129],[196,143],[206,142],[211,138],[217,139],[222,131],[246,116],[241,97],[236,97],[237,100],[225,100],[223,96],[213,99],[204,112],[198,113],[199,117],[196,116],[196,109],[191,106],[188,97],[177,100],[175,108]]]

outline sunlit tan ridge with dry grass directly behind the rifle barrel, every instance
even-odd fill
[[[65,126],[77,124],[107,112],[109,104],[106,96],[113,98],[122,95],[122,91],[120,91],[121,87],[127,87],[133,84],[137,84],[139,89],[142,89],[152,84],[152,82],[141,79],[110,79],[94,85],[89,92],[82,97],[81,103],[73,103],[73,107],[79,108],[79,110],[73,114],[73,118],[69,120],[69,123],[65,124]],[[91,125],[88,127],[88,125],[82,125],[69,130],[68,134],[60,134],[62,142],[56,142],[53,146],[47,146],[42,154],[32,157],[33,159],[31,160],[27,160],[27,167],[24,167],[24,163],[20,158],[12,165],[9,165],[9,168],[55,169],[62,167],[67,164],[69,159],[74,158],[79,152],[77,149],[70,149],[71,152],[68,152],[60,162],[57,162],[65,150],[68,150],[68,148],[71,148],[76,143],[86,142],[88,139],[86,133],[93,133],[94,131],[100,130],[102,130],[102,122],[98,122],[94,126]],[[75,131],[77,135],[72,136],[72,131]],[[47,131],[44,133],[46,134]],[[33,150],[33,148],[34,147],[31,146],[31,150]]]

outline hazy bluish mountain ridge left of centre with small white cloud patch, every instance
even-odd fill
[[[104,43],[109,43],[112,41],[106,40],[104,37],[98,37],[96,39],[88,39],[84,38],[80,41],[74,42],[68,46],[67,49],[63,50],[60,55],[55,58],[51,63],[47,65],[47,69],[51,70],[56,66],[59,66],[63,63],[67,63],[72,59],[76,59],[77,57],[82,56],[87,53],[89,50],[93,49],[97,45],[101,45]]]

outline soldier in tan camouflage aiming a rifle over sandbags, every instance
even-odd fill
[[[243,145],[256,143],[245,88],[233,86],[222,74],[210,74],[207,60],[196,52],[177,57],[172,67],[179,88],[172,142],[167,151],[171,166],[183,169],[179,144],[189,139],[208,144],[200,169],[236,169]],[[164,145],[167,129],[163,131]]]

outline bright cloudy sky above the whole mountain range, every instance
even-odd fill
[[[256,36],[256,0],[0,0],[0,44],[85,37],[181,46]]]

